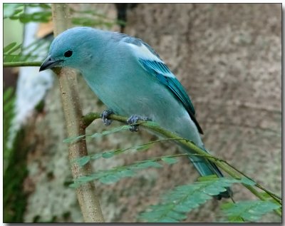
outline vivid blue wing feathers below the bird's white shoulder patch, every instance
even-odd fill
[[[199,133],[203,134],[202,128],[199,126],[195,118],[195,109],[190,101],[189,96],[187,95],[185,89],[181,85],[181,83],[175,78],[169,68],[165,65],[165,63],[157,62],[157,61],[149,61],[140,58],[140,63],[142,63],[143,68],[153,76],[155,76],[162,84],[167,86],[167,88],[175,94],[179,101],[183,104],[187,112],[189,113],[191,119],[194,121],[195,125]]]

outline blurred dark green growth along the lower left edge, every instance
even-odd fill
[[[26,150],[21,149],[24,131],[19,130],[11,147],[8,145],[11,133],[11,121],[14,118],[15,94],[13,88],[7,88],[3,94],[3,154],[4,154],[4,222],[23,222],[26,210],[26,194],[23,181],[26,178]]]

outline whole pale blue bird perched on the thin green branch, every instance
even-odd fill
[[[140,38],[84,26],[68,29],[53,39],[39,71],[54,67],[75,68],[81,73],[107,106],[102,113],[106,125],[110,113],[130,117],[128,123],[152,120],[208,153],[190,96],[157,52]],[[200,175],[224,177],[206,158],[189,158]],[[218,200],[222,197],[232,197],[232,190],[226,188],[216,195]]]

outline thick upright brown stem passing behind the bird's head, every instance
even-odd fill
[[[51,9],[53,15],[54,34],[57,36],[69,28],[70,16],[68,4],[51,4]],[[85,135],[86,131],[83,127],[76,73],[68,68],[56,68],[53,71],[58,75],[68,136]],[[90,164],[86,164],[81,168],[77,163],[73,162],[76,158],[88,155],[86,140],[78,140],[76,143],[69,144],[68,151],[73,178],[76,179],[84,175],[88,175],[91,171]],[[103,215],[96,195],[94,183],[90,182],[81,185],[79,188],[76,188],[76,193],[84,221],[103,222]]]

